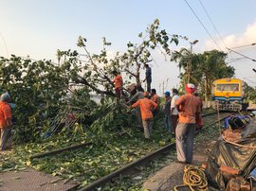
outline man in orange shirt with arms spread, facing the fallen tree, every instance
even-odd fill
[[[133,104],[131,107],[136,108],[137,106],[140,107],[140,113],[143,123],[143,129],[144,129],[144,135],[146,139],[150,139],[151,137],[151,130],[153,127],[153,113],[152,110],[155,110],[157,108],[157,104],[149,99],[149,93],[145,92],[143,94],[144,98],[139,99],[135,104]]]

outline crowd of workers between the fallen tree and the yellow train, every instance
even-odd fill
[[[154,117],[159,110],[159,97],[155,89],[151,89],[152,71],[148,64],[145,64],[145,79],[147,91],[144,91],[140,84],[137,84],[135,90],[131,91],[132,97],[126,102],[130,108],[135,108],[137,113],[137,122],[144,130],[146,139],[151,139],[151,132],[154,124]],[[121,96],[122,78],[118,72],[114,79],[115,89],[118,100]],[[202,112],[202,100],[195,93],[196,87],[192,83],[186,85],[186,94],[178,96],[177,89],[165,92],[165,105],[163,112],[165,114],[165,124],[169,132],[176,139],[177,163],[191,164],[192,149],[195,130],[202,126],[200,113]]]

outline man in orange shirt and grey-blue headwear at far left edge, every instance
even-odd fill
[[[11,123],[11,108],[9,106],[10,96],[5,93],[0,97],[0,150],[7,148],[7,142],[10,136]]]

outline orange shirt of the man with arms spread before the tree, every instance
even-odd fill
[[[135,104],[132,105],[133,108],[136,108],[137,106],[140,107],[140,113],[142,120],[153,118],[152,109],[157,108],[157,104],[148,98],[143,98],[137,100]]]

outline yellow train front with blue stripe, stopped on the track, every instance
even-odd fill
[[[220,111],[241,111],[245,99],[244,81],[220,78],[212,83],[212,107]]]

